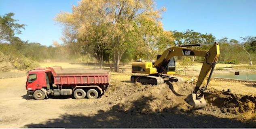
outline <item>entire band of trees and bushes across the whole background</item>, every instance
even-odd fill
[[[111,3],[106,0],[81,0],[78,6],[72,7],[72,13],[56,15],[55,21],[64,28],[63,37],[61,43],[53,41],[51,46],[29,42],[29,39],[21,40],[18,35],[26,25],[17,23],[18,20],[13,19],[14,13],[2,15],[0,71],[8,71],[10,68],[29,70],[42,61],[72,61],[85,64],[95,62],[99,68],[108,63],[118,72],[120,65],[139,58],[156,60],[157,54],[168,47],[211,42],[220,44],[218,63],[249,64],[248,54],[252,63],[256,62],[256,36],[241,37],[240,40],[216,39],[210,32],[166,31],[161,23],[164,11],[165,8],[157,10],[152,0]],[[192,48],[207,50],[209,47],[211,45]],[[194,62],[202,62],[203,58],[176,57],[176,60],[189,68]]]

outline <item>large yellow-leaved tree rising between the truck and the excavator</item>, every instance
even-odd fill
[[[155,7],[153,0],[81,0],[78,6],[73,6],[72,13],[60,13],[55,20],[65,26],[66,38],[97,47],[91,53],[98,57],[102,55],[97,51],[104,53],[110,49],[114,70],[118,72],[123,53],[131,44],[136,44],[138,19],[157,23],[161,18],[165,8],[156,10]]]

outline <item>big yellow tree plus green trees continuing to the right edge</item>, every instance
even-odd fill
[[[64,26],[63,42],[75,46],[76,51],[89,54],[99,62],[113,62],[118,71],[120,62],[156,60],[168,47],[177,44],[220,42],[220,62],[248,63],[245,49],[254,55],[255,37],[245,37],[243,42],[237,40],[217,40],[212,34],[201,34],[193,30],[185,32],[165,31],[161,23],[161,13],[165,8],[156,9],[153,0],[81,0],[72,7],[72,13],[63,12],[55,20]],[[210,45],[193,47],[209,49]],[[180,60],[183,57],[178,58]],[[254,56],[252,59],[255,61]],[[201,61],[199,57],[186,60]]]

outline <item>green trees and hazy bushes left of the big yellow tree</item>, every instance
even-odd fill
[[[53,46],[44,46],[37,42],[23,41],[15,34],[21,34],[24,24],[18,24],[13,19],[14,13],[0,16],[0,71],[14,67],[18,70],[34,69],[38,61],[52,59],[63,61],[72,55],[68,46],[53,42]],[[10,62],[10,63],[6,63]],[[9,65],[9,66],[6,66]]]

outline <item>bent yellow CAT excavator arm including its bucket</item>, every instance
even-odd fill
[[[194,45],[199,46],[200,44],[194,44]],[[186,102],[188,102],[188,104],[194,106],[194,108],[196,109],[196,108],[202,108],[206,105],[205,99],[203,98],[203,92],[207,88],[207,85],[212,76],[212,72],[214,70],[215,64],[220,55],[220,47],[219,47],[219,44],[215,42],[213,47],[209,49],[209,51],[184,48],[189,46],[193,46],[193,44],[182,46],[182,47],[171,47],[167,49],[166,51],[164,51],[161,57],[154,63],[154,67],[157,68],[157,72],[161,74],[163,73],[163,70],[165,70],[165,67],[168,64],[168,60],[173,56],[205,57],[194,92],[193,94],[188,95],[188,97],[185,99]],[[207,85],[205,86],[205,89],[202,89],[202,83],[207,77],[207,74],[209,74],[209,78],[207,79]]]

